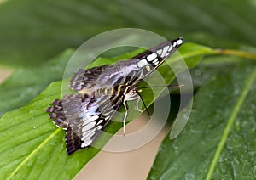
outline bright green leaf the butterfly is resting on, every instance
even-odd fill
[[[195,49],[198,53],[190,53],[188,51],[190,48]],[[202,52],[210,50],[210,48],[189,43],[180,48],[189,68],[195,66],[201,59]],[[133,55],[135,54],[131,56]],[[119,56],[119,59],[126,58],[127,54]],[[181,60],[179,56],[173,56],[167,60],[167,63],[177,63],[179,60]],[[94,65],[101,65],[102,63],[99,60],[96,62]],[[163,65],[159,71],[166,79],[166,83],[170,83],[175,76],[172,72],[170,74],[170,68],[167,67],[168,65]],[[154,80],[154,74],[149,76],[149,79],[151,78]],[[157,96],[161,91],[161,89],[158,90]],[[49,103],[55,98],[61,98],[61,82],[53,82],[30,104],[19,110],[10,111],[0,119],[1,178],[38,179],[40,177],[44,179],[50,177],[51,179],[70,179],[99,152],[99,149],[90,147],[79,150],[70,156],[66,154],[65,132],[56,128],[45,113]],[[143,99],[147,104],[152,104],[154,98],[156,97],[143,93]],[[134,107],[129,109],[128,114],[128,121],[130,121],[138,115],[138,112]],[[123,117],[117,115],[115,119],[122,120]],[[106,128],[106,131],[114,134],[121,127],[122,123],[113,121]],[[101,136],[97,142],[103,145],[108,142],[108,138]]]

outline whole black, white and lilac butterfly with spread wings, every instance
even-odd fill
[[[125,102],[141,99],[137,84],[182,44],[183,38],[179,37],[114,65],[78,70],[70,81],[76,93],[56,99],[46,110],[55,125],[66,130],[67,155],[90,147],[122,105],[125,129]]]

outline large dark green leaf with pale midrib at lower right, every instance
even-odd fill
[[[256,177],[256,65],[242,61],[196,93],[187,126],[166,137],[148,179]]]

